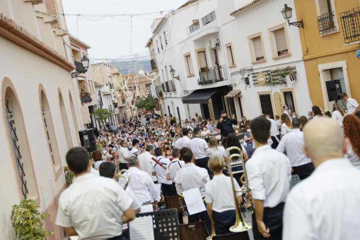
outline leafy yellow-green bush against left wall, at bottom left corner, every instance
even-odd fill
[[[23,199],[20,204],[13,205],[11,219],[18,240],[45,240],[52,232],[44,226],[47,213],[40,213],[39,203],[32,199]]]

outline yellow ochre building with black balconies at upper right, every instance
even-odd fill
[[[307,84],[313,105],[332,111],[334,101],[328,89],[339,83],[341,91],[360,102],[360,1],[359,0],[294,0]],[[338,81],[333,81],[338,80]],[[332,82],[328,82],[332,81]],[[338,103],[341,105],[342,100]]]

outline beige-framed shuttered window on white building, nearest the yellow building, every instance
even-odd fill
[[[269,37],[273,59],[290,56],[288,35],[285,25],[282,23],[269,29]]]

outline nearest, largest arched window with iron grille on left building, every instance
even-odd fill
[[[10,147],[12,148],[19,189],[21,189],[20,191],[22,194],[21,198],[37,199],[39,193],[37,190],[30,149],[28,148],[26,129],[18,99],[11,87],[6,87],[5,99],[3,100],[5,103]]]

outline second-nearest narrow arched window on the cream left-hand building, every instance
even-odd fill
[[[50,158],[54,164],[55,180],[59,177],[62,172],[62,166],[60,162],[60,155],[58,145],[55,138],[54,124],[51,119],[50,107],[48,99],[46,99],[43,90],[40,91],[40,105],[41,105],[41,116],[44,121],[44,129],[46,140],[48,141]]]

